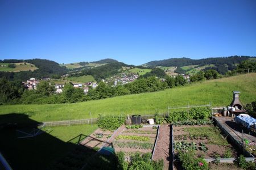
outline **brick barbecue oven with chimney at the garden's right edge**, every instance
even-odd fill
[[[229,112],[236,115],[245,113],[245,110],[243,109],[243,105],[239,100],[239,94],[240,94],[240,91],[233,91],[233,101],[230,103],[230,107],[236,108],[236,110],[232,111],[232,109],[230,109]]]

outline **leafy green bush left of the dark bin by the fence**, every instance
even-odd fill
[[[101,116],[98,117],[98,127],[103,130],[115,130],[125,123],[123,116]]]

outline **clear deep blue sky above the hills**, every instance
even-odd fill
[[[0,0],[0,59],[256,56],[255,0]]]

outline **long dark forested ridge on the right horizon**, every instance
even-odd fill
[[[188,66],[188,65],[234,65],[236,63],[241,63],[242,61],[245,61],[246,59],[253,58],[250,56],[230,56],[230,57],[216,57],[216,58],[203,58],[203,59],[191,59],[191,58],[170,58],[170,59],[163,59],[159,61],[151,61],[148,63],[145,63],[144,66],[148,67],[156,67],[156,66],[176,66],[176,67],[182,67],[182,66]],[[254,57],[255,58],[255,57]]]

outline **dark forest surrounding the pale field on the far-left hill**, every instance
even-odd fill
[[[18,62],[15,59],[5,59],[4,61]],[[0,78],[19,81],[24,81],[31,77],[37,79],[60,78],[61,75],[67,74],[68,71],[66,67],[61,67],[59,63],[48,59],[26,59],[22,60],[22,62],[32,63],[38,67],[38,69],[34,71],[20,71],[16,73],[0,71]]]

